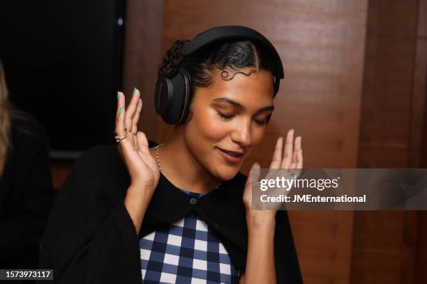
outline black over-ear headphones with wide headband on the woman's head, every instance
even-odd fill
[[[274,96],[276,96],[280,86],[280,79],[283,79],[282,61],[271,42],[253,29],[246,26],[218,26],[209,29],[187,42],[182,47],[182,55],[184,57],[190,56],[202,47],[227,39],[250,40],[263,47],[269,53],[274,61]],[[193,97],[191,86],[192,79],[185,66],[178,66],[174,74],[159,74],[154,93],[154,104],[157,113],[165,123],[179,125],[186,122]]]

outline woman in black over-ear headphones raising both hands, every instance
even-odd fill
[[[183,58],[186,43],[174,42],[159,70],[185,66],[192,81],[171,138],[149,148],[140,92],[128,107],[118,93],[119,148],[90,150],[68,176],[40,258],[58,283],[301,283],[286,212],[251,210],[256,180],[239,173],[274,109],[274,62],[250,40]],[[282,158],[279,138],[271,168],[301,168],[293,129],[284,148]]]

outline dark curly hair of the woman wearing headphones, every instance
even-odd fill
[[[274,77],[274,62],[262,47],[250,40],[223,40],[199,49],[191,56],[182,55],[182,47],[190,40],[176,40],[167,50],[158,69],[159,76],[171,77],[181,65],[190,73],[193,93],[197,87],[211,86],[213,76],[220,72],[223,80],[233,79],[235,74],[250,75],[258,70],[271,72]],[[245,73],[242,69],[253,67],[255,70]],[[271,81],[274,84],[274,81]],[[190,111],[189,119],[192,117]]]

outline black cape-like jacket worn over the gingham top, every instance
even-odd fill
[[[218,232],[234,265],[244,269],[245,182],[238,173],[191,204],[188,194],[160,175],[137,235],[123,203],[130,178],[117,147],[92,148],[77,160],[54,203],[39,268],[53,268],[61,284],[141,283],[140,238],[195,210]],[[276,215],[275,251],[278,283],[302,283],[285,211]]]

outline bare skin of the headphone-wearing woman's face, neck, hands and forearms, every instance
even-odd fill
[[[244,161],[230,163],[218,147],[245,152],[246,158],[264,139],[267,125],[262,122],[273,111],[273,77],[270,72],[257,70],[250,76],[236,74],[230,81],[220,79],[219,74],[214,74],[213,84],[208,88],[197,88],[191,106],[193,119],[174,127],[170,140],[159,151],[162,173],[172,184],[203,194],[213,190],[220,180],[234,178]],[[135,91],[127,109],[124,101],[123,93],[119,93],[116,134],[127,135],[119,143],[119,152],[131,179],[124,202],[139,233],[160,173],[156,150],[148,148],[147,137],[137,131],[142,111],[140,92]],[[241,106],[237,107],[235,103]],[[218,112],[230,118],[223,118]],[[284,150],[283,154],[283,138],[279,137],[270,168],[302,168],[301,136],[294,139],[294,129],[287,132]],[[177,164],[186,167],[174,166]],[[257,177],[252,178],[252,171],[257,168],[260,168],[259,164],[253,164],[242,197],[248,226],[248,257],[240,283],[276,283],[276,210],[251,210],[252,183],[257,182]]]

